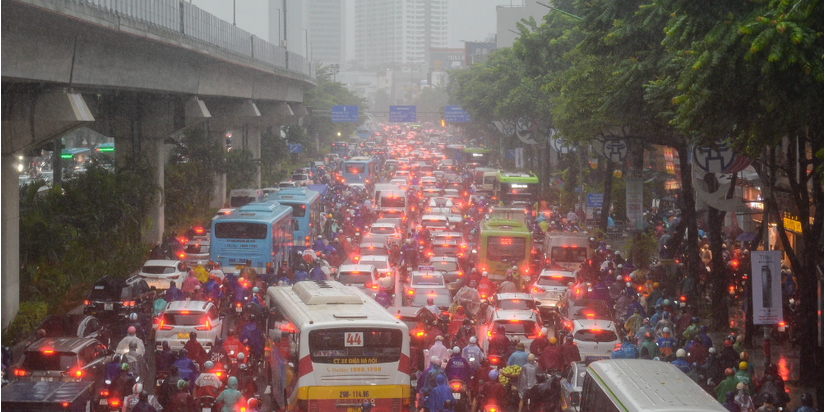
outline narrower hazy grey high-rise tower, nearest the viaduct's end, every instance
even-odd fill
[[[344,0],[308,0],[305,5],[312,60],[325,65],[343,63],[346,53]]]

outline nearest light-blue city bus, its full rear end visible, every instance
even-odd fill
[[[289,262],[292,207],[274,201],[252,202],[212,220],[209,260],[224,273],[238,273],[247,262],[258,273],[277,273]]]

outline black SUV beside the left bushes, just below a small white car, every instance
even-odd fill
[[[146,320],[152,313],[153,302],[154,293],[143,278],[104,276],[89,291],[83,313],[107,322],[118,322],[135,312]]]

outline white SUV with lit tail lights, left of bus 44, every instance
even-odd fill
[[[223,319],[214,303],[184,300],[166,305],[155,332],[155,348],[163,349],[166,341],[170,349],[181,349],[192,332],[198,334],[198,343],[207,352],[212,350],[215,339],[223,333]]]

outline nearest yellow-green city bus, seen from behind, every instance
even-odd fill
[[[503,280],[507,269],[530,271],[531,233],[517,220],[490,219],[481,223],[478,268],[490,280]]]

